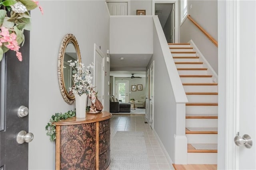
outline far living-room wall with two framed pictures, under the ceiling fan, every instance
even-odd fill
[[[121,78],[121,77],[115,77],[116,80],[124,80],[129,81],[129,100],[130,98],[134,98],[135,100],[141,100],[141,95],[146,95],[146,78]],[[142,90],[138,90],[138,84],[142,84]],[[137,86],[137,91],[132,91],[132,85]]]

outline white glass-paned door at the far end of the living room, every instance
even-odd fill
[[[122,100],[122,103],[128,103],[129,102],[129,81],[118,81],[116,80],[116,98],[118,100]]]

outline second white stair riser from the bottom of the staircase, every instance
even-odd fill
[[[198,144],[217,144],[218,135],[217,134],[186,134],[188,143],[198,143]]]

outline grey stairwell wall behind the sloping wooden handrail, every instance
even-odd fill
[[[190,9],[190,6],[192,8]],[[188,14],[218,41],[218,1],[188,0]],[[216,47],[190,20],[180,26],[180,42],[192,39],[206,60],[218,74],[218,47]]]

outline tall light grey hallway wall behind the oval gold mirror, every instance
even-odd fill
[[[57,62],[62,38],[67,33],[76,36],[85,65],[93,61],[94,43],[105,56],[109,49],[109,15],[104,0],[40,1],[40,5],[44,15],[39,9],[31,11],[29,131],[34,133],[34,140],[29,143],[30,170],[55,169],[55,143],[50,142],[44,128],[51,115],[74,109],[74,104],[63,100],[58,84]],[[109,67],[105,63],[105,82],[109,81]],[[108,96],[109,86],[105,88]],[[104,106],[104,110],[109,110],[108,98]]]

